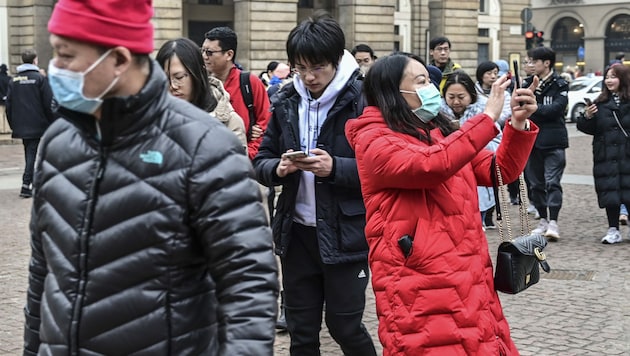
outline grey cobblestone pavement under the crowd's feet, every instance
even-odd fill
[[[501,294],[501,301],[521,355],[630,356],[629,227],[622,227],[623,243],[600,243],[607,226],[592,186],[591,138],[572,124],[569,129],[561,240],[545,249],[552,273],[541,272],[537,285],[518,295]],[[22,164],[21,145],[0,145],[0,355],[21,354],[22,346],[31,204],[18,198]],[[511,207],[512,221],[518,221],[516,213]],[[494,254],[498,233],[489,230],[487,236]],[[367,297],[364,322],[380,354],[369,288]],[[325,327],[321,335],[322,355],[342,355]],[[288,355],[288,345],[288,335],[278,334],[276,355]]]

